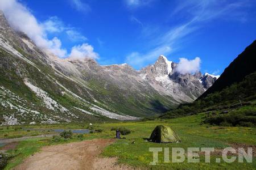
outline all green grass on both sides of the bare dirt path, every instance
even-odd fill
[[[159,153],[159,164],[150,165],[150,162],[152,162],[152,152],[148,151],[149,147],[183,147],[186,150],[188,147],[214,147],[221,149],[232,145],[232,143],[256,145],[256,128],[200,125],[203,117],[204,114],[201,113],[172,120],[94,124],[96,129],[103,129],[102,133],[85,134],[83,139],[113,138],[115,136],[115,131],[111,131],[111,128],[125,127],[132,131],[131,134],[124,136],[126,139],[119,139],[117,142],[106,147],[101,156],[118,157],[118,163],[149,169],[255,169],[256,158],[253,158],[253,163],[238,163],[237,161],[234,163],[215,163],[215,159],[221,158],[221,156],[211,155],[211,163],[204,163],[204,155],[201,155],[200,163],[187,163],[187,160],[184,163],[163,163],[163,152]],[[143,138],[150,137],[151,131],[156,125],[171,126],[181,138],[181,143],[159,144],[146,142]],[[86,127],[85,124],[33,126],[33,128],[38,129],[81,129]],[[22,141],[19,143],[16,150],[10,151],[16,156],[10,160],[6,169],[15,167],[15,165],[18,165],[23,159],[27,158],[27,156],[39,151],[42,146],[73,141],[79,141],[79,139],[73,138],[68,141],[57,143],[51,142],[50,139],[42,138]]]

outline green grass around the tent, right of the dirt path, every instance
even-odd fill
[[[159,165],[150,165],[152,162],[152,152],[149,147],[214,147],[225,148],[232,143],[246,143],[247,145],[256,145],[255,128],[238,128],[238,127],[216,127],[207,128],[200,125],[203,114],[176,118],[174,120],[148,121],[148,122],[130,122],[123,124],[106,124],[101,128],[109,129],[110,127],[122,126],[133,130],[134,132],[126,136],[126,139],[118,140],[110,145],[102,153],[103,156],[116,156],[121,164],[129,164],[136,167],[145,167],[152,169],[254,169],[256,159],[253,163],[214,163],[216,157],[212,156],[212,163],[204,163],[204,156],[200,156],[201,163],[163,163],[163,152],[159,153]],[[143,138],[150,137],[151,131],[156,125],[168,125],[174,129],[181,138],[181,143],[151,143],[146,142]],[[114,135],[114,132],[112,133]],[[132,142],[135,141],[133,144]],[[170,151],[171,152],[171,151]],[[218,157],[220,158],[220,157]]]

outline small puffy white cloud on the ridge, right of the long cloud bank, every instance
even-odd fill
[[[82,44],[73,46],[71,50],[71,54],[69,56],[69,59],[85,59],[85,58],[93,58],[98,59],[99,56],[96,52],[93,50],[93,46],[89,44]]]

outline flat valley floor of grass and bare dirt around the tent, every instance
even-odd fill
[[[94,167],[95,164],[101,166],[101,163],[104,164],[106,168],[112,166],[116,167],[115,164],[118,163],[119,165],[125,165],[125,167],[119,168],[132,167],[141,169],[255,169],[256,128],[202,125],[201,121],[203,121],[204,116],[205,114],[201,113],[172,120],[96,124],[93,125],[94,128],[102,129],[102,132],[84,134],[82,138],[78,138],[77,134],[74,134],[73,138],[68,140],[54,141],[50,137],[26,139],[25,141],[20,141],[15,149],[7,151],[9,154],[14,155],[14,158],[9,160],[5,169],[14,167],[39,169],[35,168],[34,165],[37,163],[40,163],[40,165],[48,165],[51,164],[53,160],[55,160],[55,163],[61,162],[58,164],[58,167],[62,167],[71,161],[70,165],[72,165],[73,169],[77,169],[76,167],[80,165],[88,165],[91,169],[97,169]],[[148,142],[145,138],[150,137],[156,125],[171,126],[181,138],[181,143]],[[24,135],[31,135],[34,133],[51,133],[46,129],[82,129],[86,127],[87,125],[71,124],[30,126],[30,128],[33,129],[44,129],[44,131],[37,132],[26,132],[22,129],[15,131],[14,128],[7,130],[5,127],[1,130],[0,136],[4,138],[13,137],[15,135],[12,134],[16,134],[18,131]],[[114,140],[115,131],[111,131],[111,129],[121,127],[130,129],[131,133],[122,136],[125,137],[125,139]],[[18,127],[16,127],[16,129],[17,128]],[[4,134],[9,134],[9,137],[6,137]],[[181,147],[186,151],[188,147],[214,147],[215,152],[210,155],[210,163],[205,163],[204,154],[200,154],[199,163],[188,163],[186,154],[183,163],[164,163],[164,154],[163,152],[159,152],[159,163],[150,165],[153,158],[152,152],[149,151],[150,147],[160,147],[163,150],[169,147],[170,159],[172,147]],[[216,163],[216,158],[221,158],[221,151],[225,147],[234,147],[236,150],[238,147],[252,147],[253,162],[247,163],[244,160],[243,163],[238,163],[238,159],[236,159],[233,163],[225,163],[223,160],[221,160],[220,163]],[[93,155],[92,158],[88,158],[90,154]],[[46,156],[49,156],[50,159],[46,158]],[[62,161],[63,159],[65,160],[64,162]],[[92,161],[88,162],[86,160]],[[100,163],[98,160],[100,160]],[[48,167],[44,169],[46,168]],[[104,167],[104,169],[106,168]],[[98,169],[102,169],[102,167]]]

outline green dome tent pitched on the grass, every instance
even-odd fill
[[[180,142],[179,136],[169,126],[156,126],[150,136],[150,141],[156,143]]]

